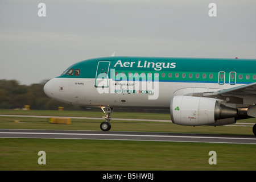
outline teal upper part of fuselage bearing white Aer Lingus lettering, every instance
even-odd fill
[[[152,80],[154,80],[154,74],[158,73],[159,81],[218,83],[219,72],[222,71],[225,72],[225,83],[229,83],[230,81],[230,72],[236,72],[236,84],[256,81],[256,60],[253,59],[180,57],[101,57],[88,59],[69,67],[69,69],[80,69],[79,76],[62,75],[59,77],[96,78],[98,61],[110,61],[109,78],[110,69],[115,69],[115,72],[119,74],[122,72],[125,73],[127,80],[129,80],[129,73],[135,74],[137,72],[138,75],[144,73],[146,80],[151,79],[148,77],[148,73],[152,74]],[[162,75],[162,73],[164,73],[164,75]],[[179,74],[178,77],[176,75],[177,73]],[[199,74],[199,77],[196,77],[196,74]],[[211,74],[212,77],[210,77]],[[135,80],[136,78],[137,77],[135,77]],[[141,77],[140,80],[143,80],[143,78]]]

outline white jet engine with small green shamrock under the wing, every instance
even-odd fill
[[[234,118],[237,116],[236,108],[207,97],[174,96],[171,98],[170,111],[173,123],[187,126],[226,125],[236,123]]]

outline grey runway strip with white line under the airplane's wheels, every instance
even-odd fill
[[[133,131],[0,129],[0,138],[97,139],[256,144],[256,137],[254,135],[155,133]]]

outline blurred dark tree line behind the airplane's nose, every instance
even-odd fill
[[[30,105],[30,109],[57,110],[62,106],[64,110],[84,110],[81,106],[63,104],[46,96],[44,84],[20,85],[16,80],[0,80],[0,109],[23,108]]]

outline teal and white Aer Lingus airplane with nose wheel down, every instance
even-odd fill
[[[177,125],[229,125],[256,117],[256,60],[100,57],[71,65],[44,92],[60,102],[101,107],[103,131],[110,130],[115,107],[170,109]]]

